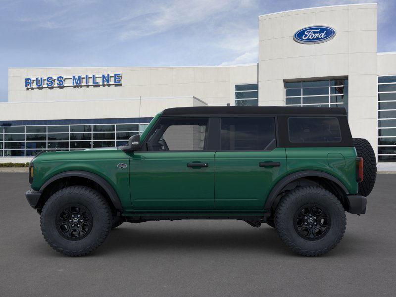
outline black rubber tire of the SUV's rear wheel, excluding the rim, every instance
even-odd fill
[[[324,237],[307,240],[298,235],[294,217],[300,207],[315,203],[330,216],[330,226]],[[344,236],[347,218],[340,201],[321,187],[300,187],[283,197],[275,212],[275,228],[282,241],[294,252],[304,256],[318,256],[336,247]]]

